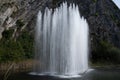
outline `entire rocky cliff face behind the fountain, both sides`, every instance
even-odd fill
[[[65,0],[0,0],[0,38],[4,30],[14,29],[13,38],[26,29],[33,33],[36,14],[44,6],[54,8]],[[120,10],[112,0],[66,0],[78,4],[90,28],[92,49],[101,41],[120,48]]]

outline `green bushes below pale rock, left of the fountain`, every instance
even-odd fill
[[[20,61],[33,57],[33,37],[26,31],[16,41],[11,39],[12,31],[4,31],[0,40],[0,62]]]

